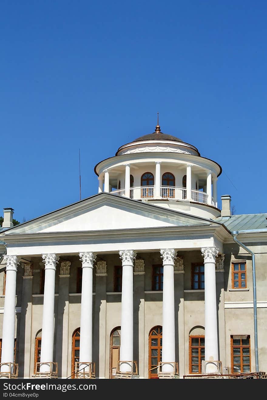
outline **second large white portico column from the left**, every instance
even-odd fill
[[[58,262],[56,254],[43,254],[44,260],[44,306],[42,320],[42,343],[40,362],[53,362],[54,350],[54,303],[55,274]],[[40,364],[40,372],[49,372],[49,364]]]

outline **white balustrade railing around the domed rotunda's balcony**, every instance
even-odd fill
[[[125,189],[113,190],[110,193],[115,194],[116,196],[125,196]],[[141,200],[143,198],[154,199],[155,195],[155,186],[135,186],[133,188],[130,188],[130,198],[134,200]],[[187,190],[186,188],[180,188],[176,186],[161,186],[160,196],[161,198],[186,200]],[[194,202],[208,204],[207,199],[207,193],[202,192],[202,190],[191,190],[191,200],[193,200]],[[212,205],[215,206],[213,198]]]

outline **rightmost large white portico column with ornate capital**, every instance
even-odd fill
[[[205,276],[205,361],[218,360],[217,301],[215,258],[219,249],[216,247],[201,248],[204,257]],[[206,372],[217,372],[214,364],[208,364]]]

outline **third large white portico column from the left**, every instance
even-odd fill
[[[80,253],[82,261],[82,298],[80,308],[80,362],[92,362],[92,301],[94,253]],[[86,364],[80,364],[80,368]],[[88,371],[88,368],[85,368]],[[81,371],[82,372],[82,371]]]

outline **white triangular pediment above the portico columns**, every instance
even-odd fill
[[[209,226],[212,221],[100,193],[5,231],[6,234]]]

